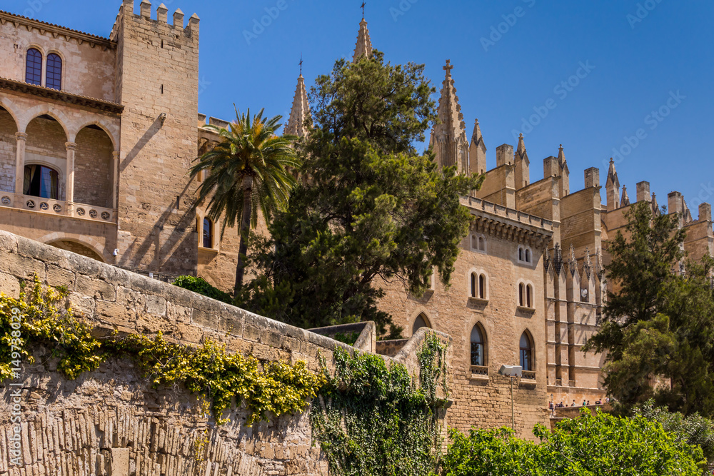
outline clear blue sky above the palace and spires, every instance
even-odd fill
[[[286,115],[301,54],[310,86],[336,58],[351,57],[361,19],[357,0],[164,3],[169,16],[181,8],[187,18],[201,17],[199,110],[226,119],[233,103]],[[0,9],[108,36],[120,4],[2,0]],[[273,18],[263,18],[268,14]],[[543,158],[557,155],[562,143],[576,191],[591,166],[600,167],[604,185],[614,149],[630,198],[635,183],[646,180],[660,204],[676,190],[690,208],[714,201],[713,18],[710,0],[367,0],[366,6],[373,45],[388,61],[426,64],[440,90],[451,59],[468,136],[478,118],[489,168],[496,147],[515,146],[514,135],[523,132],[531,181],[542,178]],[[261,20],[268,26],[254,29]]]

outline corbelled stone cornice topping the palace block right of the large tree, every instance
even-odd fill
[[[480,198],[462,198],[461,203],[473,215],[473,226],[478,233],[496,238],[527,243],[534,248],[545,248],[553,238],[553,222],[512,208],[487,202]]]

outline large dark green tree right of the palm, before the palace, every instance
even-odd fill
[[[459,198],[482,178],[441,171],[413,147],[436,119],[433,91],[423,65],[381,54],[337,61],[317,79],[316,123],[298,143],[306,180],[254,247],[258,278],[241,306],[303,328],[373,320],[378,335],[397,338],[376,283],[400,280],[422,295],[435,269],[449,282],[471,222]]]

